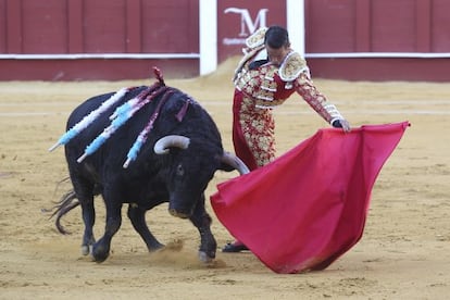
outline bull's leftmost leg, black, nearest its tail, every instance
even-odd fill
[[[93,185],[82,178],[72,176],[72,185],[76,197],[82,205],[83,222],[85,224],[85,232],[82,241],[83,255],[89,254],[89,250],[96,242],[93,238],[93,224],[96,223],[96,211],[93,208]]]

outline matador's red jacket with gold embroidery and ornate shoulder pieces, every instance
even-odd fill
[[[246,40],[245,55],[235,72],[236,88],[251,98],[255,108],[272,109],[297,91],[329,124],[343,118],[314,86],[307,62],[298,52],[288,53],[279,66],[257,61],[265,51],[265,32],[266,28],[260,28]]]

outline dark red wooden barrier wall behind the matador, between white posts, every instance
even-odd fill
[[[304,0],[304,3],[305,52],[316,76],[450,80],[447,72],[450,1]],[[286,2],[217,0],[216,17],[217,58],[222,62],[240,53],[241,42],[252,29],[286,25]],[[446,54],[403,59],[334,55],[360,52]],[[180,55],[13,57],[77,53]],[[133,79],[149,76],[153,65],[162,67],[167,76],[192,77],[199,75],[198,54],[199,0],[0,0],[0,80]]]

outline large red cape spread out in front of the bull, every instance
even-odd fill
[[[212,208],[274,272],[323,270],[361,239],[375,179],[409,125],[320,129],[264,167],[217,185]]]

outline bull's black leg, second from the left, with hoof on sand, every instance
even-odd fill
[[[105,195],[104,202],[107,205],[107,224],[104,235],[92,246],[92,258],[96,262],[103,262],[110,255],[111,239],[117,233],[122,224],[122,203],[111,201],[113,198],[108,198]]]

